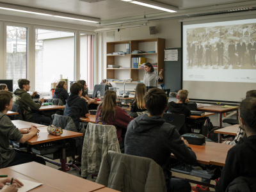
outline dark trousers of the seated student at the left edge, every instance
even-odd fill
[[[24,151],[15,151],[15,157],[8,166],[14,166],[17,164],[29,163],[35,161],[37,163],[45,164],[43,157],[38,157],[35,154]]]

